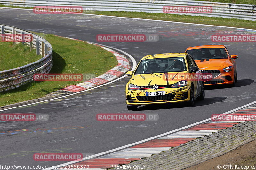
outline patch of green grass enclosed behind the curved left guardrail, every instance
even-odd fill
[[[29,51],[28,46],[21,43],[13,45],[12,42],[0,42],[0,71],[13,69],[41,58],[36,55],[36,50]]]

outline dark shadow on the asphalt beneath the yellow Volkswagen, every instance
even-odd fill
[[[221,102],[225,100],[227,97],[210,97],[205,98],[203,101],[196,101],[196,106],[204,106],[204,105],[210,105],[213,103]],[[182,107],[188,107],[186,103],[170,103],[170,104],[155,104],[155,105],[145,105],[139,107],[137,110],[160,110],[160,109],[173,109],[173,108],[182,108]]]

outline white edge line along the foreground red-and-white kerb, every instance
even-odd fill
[[[235,112],[235,111],[237,111],[237,110],[240,110],[240,109],[242,109],[242,108],[244,108],[244,107],[250,106],[250,105],[255,104],[255,103],[256,103],[256,101],[253,101],[253,102],[248,103],[248,104],[246,104],[246,105],[244,105],[244,106],[237,107],[237,108],[235,108],[235,109],[233,109],[233,110],[230,110],[230,111],[228,111],[228,112],[225,112],[225,113],[223,113],[222,115],[227,115],[227,114],[229,114],[229,113]],[[128,147],[131,147],[131,146],[134,146],[134,145],[137,145],[137,144],[141,144],[141,143],[147,142],[147,141],[149,141],[149,140],[153,140],[153,139],[156,139],[156,138],[159,138],[159,137],[163,137],[163,136],[169,135],[169,134],[171,134],[171,133],[174,133],[174,132],[177,132],[177,131],[180,131],[180,130],[188,129],[188,128],[192,127],[192,126],[196,126],[196,125],[198,125],[198,124],[201,124],[201,123],[204,123],[204,122],[208,122],[208,121],[210,121],[210,120],[211,120],[211,118],[208,118],[208,119],[205,119],[205,120],[203,120],[203,121],[196,122],[196,123],[190,124],[190,125],[188,125],[188,126],[184,126],[184,127],[182,127],[182,128],[179,128],[179,129],[175,129],[175,130],[172,130],[172,131],[169,131],[169,132],[160,134],[160,135],[156,135],[156,136],[154,136],[154,137],[150,137],[150,138],[147,138],[147,139],[138,141],[138,142],[134,142],[134,143],[132,143],[132,144],[127,144],[127,145],[124,145],[124,146],[121,146],[121,147],[118,147],[118,148],[115,148],[115,149],[111,149],[111,150],[109,150],[109,151],[97,153],[97,154],[92,155],[92,156],[90,156],[90,157],[88,157],[88,158],[87,158],[87,157],[83,158],[82,161],[84,161],[84,160],[86,160],[86,159],[91,159],[91,158],[99,157],[99,156],[102,156],[102,155],[106,155],[106,154],[108,154],[108,153],[115,152],[115,151],[118,151],[118,150],[121,150],[121,149],[124,149],[124,148],[128,148]],[[175,137],[175,138],[177,138],[177,137]],[[74,161],[70,161],[70,162],[67,162],[67,163],[64,163],[64,164],[60,164],[60,165],[57,165],[57,166],[70,165],[70,164],[74,164],[74,163],[77,163],[77,162],[80,162],[80,161],[81,161],[81,160],[74,160]],[[43,170],[52,170],[52,169],[55,169],[55,168],[47,168],[47,169],[43,169]]]

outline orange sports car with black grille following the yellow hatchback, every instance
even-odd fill
[[[237,55],[229,55],[224,45],[204,45],[187,48],[203,73],[204,85],[230,84],[237,82]]]

